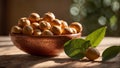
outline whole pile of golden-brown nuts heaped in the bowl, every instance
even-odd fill
[[[31,13],[29,17],[22,17],[18,24],[13,26],[11,33],[33,36],[53,36],[75,34],[82,32],[82,25],[73,22],[69,26],[66,21],[55,18],[52,12],[45,13],[40,17],[38,13]]]

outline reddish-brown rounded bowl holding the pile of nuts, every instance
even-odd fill
[[[54,36],[10,34],[13,44],[22,51],[38,56],[56,56],[63,52],[64,43],[81,37],[81,33]]]

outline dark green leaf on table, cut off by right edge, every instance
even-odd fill
[[[109,60],[117,56],[118,53],[120,53],[120,46],[111,46],[102,53],[102,61]]]

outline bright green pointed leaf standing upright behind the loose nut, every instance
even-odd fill
[[[91,47],[97,47],[98,44],[102,41],[105,36],[106,27],[101,27],[96,31],[92,32],[86,37],[86,40],[89,40],[91,43]]]

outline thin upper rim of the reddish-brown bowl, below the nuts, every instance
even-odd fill
[[[81,36],[81,32],[76,34],[65,34],[65,35],[53,35],[53,36],[33,36],[33,35],[25,35],[25,34],[17,34],[17,33],[9,33],[9,36],[26,36],[26,37],[37,37],[37,38],[53,38],[53,37],[70,37],[70,36]]]

